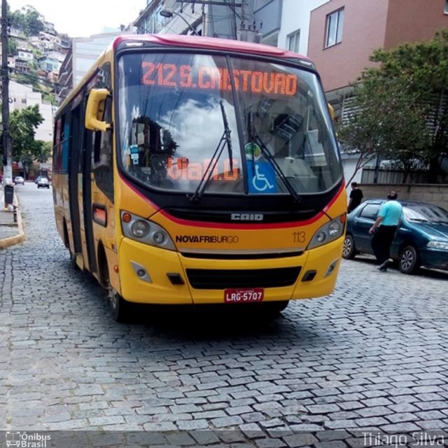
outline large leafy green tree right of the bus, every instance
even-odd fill
[[[380,65],[358,78],[353,116],[339,125],[339,139],[357,151],[358,169],[379,155],[395,160],[403,181],[425,164],[436,182],[448,153],[448,31],[375,50],[370,60]]]

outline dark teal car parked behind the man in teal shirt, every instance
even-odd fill
[[[368,200],[354,209],[347,219],[342,256],[373,254],[369,229],[384,200]],[[391,246],[391,258],[405,274],[419,267],[448,270],[448,211],[424,202],[400,201],[403,219]]]

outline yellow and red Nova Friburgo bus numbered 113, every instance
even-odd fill
[[[130,302],[281,311],[335,287],[342,165],[318,73],[293,52],[116,38],[57,111],[53,187],[71,260],[117,321]]]

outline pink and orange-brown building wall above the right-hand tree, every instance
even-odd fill
[[[372,50],[404,41],[432,38],[437,28],[448,29],[445,0],[330,0],[311,11],[307,55],[321,73],[326,92],[356,81]],[[328,14],[344,7],[342,42],[324,48]]]

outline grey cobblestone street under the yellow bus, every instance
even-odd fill
[[[0,251],[3,429],[448,428],[447,273],[361,257],[272,321],[162,309],[122,325],[71,267],[52,190],[18,196],[27,239]]]

